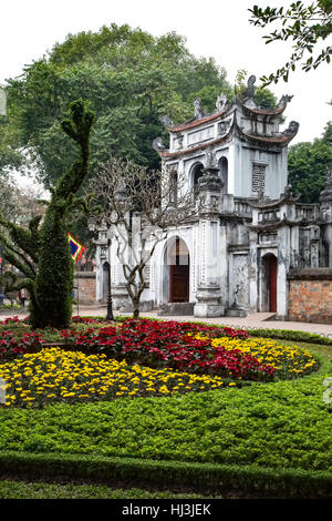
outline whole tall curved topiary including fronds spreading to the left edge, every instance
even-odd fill
[[[23,275],[4,274],[4,292],[27,288],[30,294],[30,320],[32,327],[64,328],[72,315],[73,260],[68,242],[68,218],[75,207],[87,210],[87,201],[76,197],[87,175],[89,140],[94,114],[85,102],[70,105],[70,115],[61,123],[62,130],[80,150],[80,159],[62,175],[51,191],[46,211],[34,217],[25,229],[0,215],[4,232],[0,233],[4,257]]]

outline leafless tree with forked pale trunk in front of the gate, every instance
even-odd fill
[[[132,161],[112,157],[91,180],[87,192],[103,208],[97,219],[113,228],[116,255],[123,265],[126,289],[139,315],[139,299],[147,287],[145,267],[157,244],[195,218],[204,203],[195,200],[177,171],[149,171]]]

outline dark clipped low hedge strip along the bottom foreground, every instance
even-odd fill
[[[95,483],[128,481],[154,487],[196,490],[234,490],[258,497],[331,498],[332,473],[300,469],[154,461],[134,458],[96,458],[81,454],[0,452],[0,473],[29,479],[83,479]]]

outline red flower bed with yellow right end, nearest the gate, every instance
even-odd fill
[[[21,327],[17,319],[7,321],[7,326],[13,328],[14,325]],[[77,318],[71,330],[56,331],[56,338],[65,341],[68,349],[87,355],[104,354],[128,364],[230,380],[293,378],[318,368],[317,360],[304,349],[250,338],[247,331],[228,327],[148,319],[126,319],[122,325],[103,326],[97,320]],[[0,358],[3,360],[42,349],[45,341],[42,335],[28,333],[25,321],[22,327],[20,337],[11,330],[0,330]]]

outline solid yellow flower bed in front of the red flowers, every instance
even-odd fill
[[[125,360],[107,360],[105,355],[87,356],[59,348],[25,354],[2,364],[0,377],[7,384],[7,407],[112,400],[125,396],[167,396],[226,385],[219,377],[138,365],[129,367]]]

